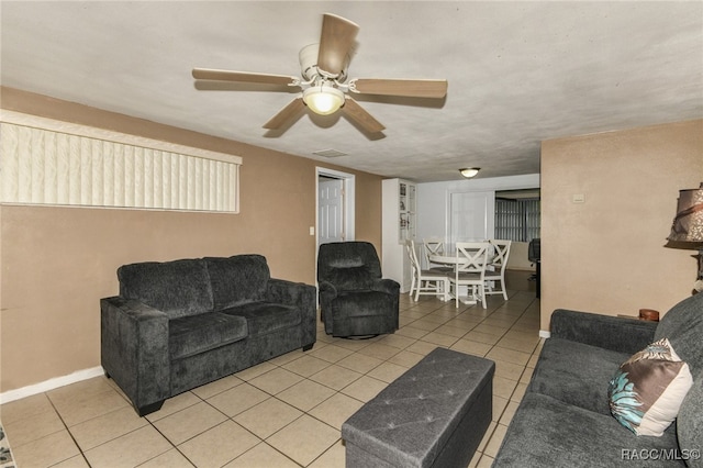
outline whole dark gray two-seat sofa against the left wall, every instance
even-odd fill
[[[260,255],[124,265],[118,278],[120,296],[100,301],[101,364],[140,415],[315,343],[315,288],[271,278]]]

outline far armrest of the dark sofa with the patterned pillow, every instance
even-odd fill
[[[654,341],[657,322],[557,309],[551,337],[634,354]]]

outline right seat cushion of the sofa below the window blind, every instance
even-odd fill
[[[250,336],[298,326],[301,322],[297,308],[270,302],[249,302],[225,309],[223,313],[246,319]]]

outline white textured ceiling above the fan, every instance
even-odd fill
[[[3,86],[416,181],[539,171],[539,142],[703,118],[703,2],[2,1]],[[387,126],[303,114],[297,94],[197,90],[193,67],[300,74],[322,13],[359,24],[350,78],[446,78],[440,102],[357,101]],[[263,90],[259,90],[263,89]]]

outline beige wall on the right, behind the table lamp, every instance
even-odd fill
[[[703,120],[544,142],[542,330],[554,309],[663,313],[688,297],[695,252],[665,244],[679,190],[701,181]]]

